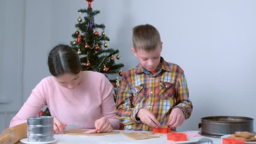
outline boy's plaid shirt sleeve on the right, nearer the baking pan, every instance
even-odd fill
[[[176,84],[176,106],[173,108],[176,107],[179,107],[183,111],[186,119],[190,117],[193,105],[189,99],[189,90],[187,87],[187,80],[184,73],[182,73],[180,77],[178,77],[178,81]]]

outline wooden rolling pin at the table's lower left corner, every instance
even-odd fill
[[[15,144],[27,137],[27,123],[6,128],[0,135],[0,144]]]

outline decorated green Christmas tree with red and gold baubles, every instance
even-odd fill
[[[75,24],[77,30],[72,34],[74,40],[70,44],[80,55],[83,70],[101,72],[106,77],[108,74],[123,76],[121,68],[124,65],[115,63],[115,58],[120,59],[119,51],[108,48],[109,37],[106,35],[105,25],[96,24],[94,21],[94,16],[100,11],[93,11],[91,8],[93,0],[86,1],[88,1],[88,8],[78,10],[80,16],[77,19],[78,23]],[[84,19],[81,18],[81,13],[85,13]],[[119,86],[116,85],[117,80],[118,77],[109,79],[115,87]]]

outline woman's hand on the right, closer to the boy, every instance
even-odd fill
[[[111,132],[113,130],[113,126],[107,117],[101,117],[100,119],[96,120],[94,126],[96,133]]]

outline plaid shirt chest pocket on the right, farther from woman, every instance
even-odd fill
[[[173,83],[160,81],[159,96],[161,99],[173,99],[174,92]]]

